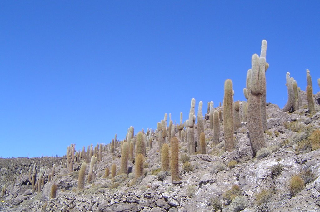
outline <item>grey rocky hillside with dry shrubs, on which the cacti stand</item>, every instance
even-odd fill
[[[135,160],[130,159],[128,173],[119,174],[122,142],[116,142],[113,152],[110,144],[101,145],[90,183],[90,165],[86,166],[84,189],[79,189],[78,178],[85,159],[77,155],[71,173],[68,155],[1,159],[0,211],[319,211],[320,111],[310,115],[303,91],[301,96],[304,106],[293,113],[267,104],[267,148],[255,156],[246,122],[235,130],[235,148],[228,152],[222,123],[219,143],[213,145],[210,121],[204,119],[206,154],[195,155],[188,155],[187,142],[181,142],[175,127],[180,180],[161,169],[156,132],[150,136],[152,147],[147,144],[141,177],[135,177]],[[317,104],[319,96],[315,95]],[[116,176],[107,177],[106,168],[111,170],[112,164]],[[29,173],[31,181],[40,176],[40,188],[33,188]],[[57,185],[56,192],[52,185]]]

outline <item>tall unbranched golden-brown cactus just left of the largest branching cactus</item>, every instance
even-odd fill
[[[232,81],[226,80],[224,83],[223,98],[223,130],[226,150],[231,152],[234,148],[233,140],[233,90]]]

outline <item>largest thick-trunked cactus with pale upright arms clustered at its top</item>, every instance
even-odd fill
[[[261,121],[261,95],[266,89],[265,85],[266,59],[257,54],[252,56],[252,73],[250,80],[250,94],[248,100],[248,130],[253,152],[256,154],[266,147],[264,130]],[[290,81],[290,79],[289,79]]]

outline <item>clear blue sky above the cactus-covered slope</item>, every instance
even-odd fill
[[[245,100],[252,54],[268,41],[267,101],[286,72],[314,93],[319,1],[0,1],[0,156],[64,155],[188,118],[191,98]]]

